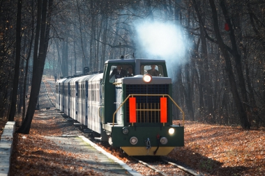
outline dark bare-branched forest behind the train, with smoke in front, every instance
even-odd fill
[[[43,75],[123,55],[166,61],[186,120],[264,127],[264,51],[264,0],[1,0],[0,118],[30,124]]]

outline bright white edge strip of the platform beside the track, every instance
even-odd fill
[[[94,148],[96,148],[96,150],[98,150],[98,151],[102,152],[103,154],[105,154],[109,159],[112,159],[116,163],[119,163],[119,165],[121,165],[124,169],[128,170],[128,173],[130,173],[131,175],[141,176],[140,173],[138,173],[135,170],[132,170],[132,168],[130,168],[130,166],[128,166],[126,163],[123,163],[123,161],[117,159],[112,154],[109,154],[108,152],[106,152],[105,150],[103,150],[101,147],[99,147],[95,143],[92,143],[88,138],[85,138],[84,136],[78,136],[78,137],[79,138],[82,138],[83,141],[85,141],[86,143],[89,143],[91,146],[93,146]]]

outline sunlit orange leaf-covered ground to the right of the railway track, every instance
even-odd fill
[[[209,175],[265,175],[265,130],[186,121],[185,147],[169,157]]]

